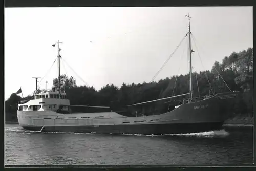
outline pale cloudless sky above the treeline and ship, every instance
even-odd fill
[[[61,74],[78,86],[149,82],[190,28],[194,71],[211,70],[253,45],[252,7],[5,8],[5,99],[21,87],[32,95]],[[154,79],[188,73],[188,38]],[[197,51],[198,50],[198,51]],[[202,62],[201,62],[202,61]],[[53,65],[53,66],[52,66]],[[51,68],[52,66],[52,68]],[[72,68],[70,69],[69,66]],[[82,78],[82,79],[80,79]],[[22,96],[22,94],[20,94]]]

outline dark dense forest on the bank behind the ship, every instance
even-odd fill
[[[52,87],[57,90],[57,78],[53,80]],[[61,90],[65,90],[71,104],[110,106],[115,111],[121,110],[129,104],[188,93],[189,74],[166,77],[158,82],[123,83],[120,88],[113,84],[107,84],[98,91],[94,87],[77,86],[73,77],[61,75],[60,87]],[[193,73],[194,97],[229,91],[241,92],[241,96],[236,99],[233,116],[230,117],[236,115],[252,117],[253,48],[233,52],[229,56],[225,56],[221,62],[215,61],[210,71]],[[6,114],[16,114],[17,103],[23,99],[33,99],[33,96],[22,98],[16,93],[11,94],[5,101]],[[156,102],[154,105],[156,108],[160,108],[162,103],[163,101]]]

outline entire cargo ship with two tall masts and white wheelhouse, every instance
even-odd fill
[[[171,100],[177,97],[189,98],[179,101],[173,108],[160,113],[132,114],[130,110],[115,111],[109,106],[71,105],[65,91],[35,91],[34,99],[20,101],[17,109],[19,125],[26,130],[40,132],[74,132],[74,133],[112,133],[112,134],[143,134],[164,135],[179,133],[198,133],[222,129],[222,124],[232,111],[232,101],[239,92],[211,94],[193,97],[192,65],[190,41],[190,16],[188,17],[189,38],[189,76],[190,90],[188,93],[165,97],[127,105],[127,108],[156,101]],[[58,41],[58,78],[60,78],[60,48]],[[36,79],[37,90],[37,79]],[[166,103],[166,102],[165,102]],[[167,102],[168,103],[168,102]],[[73,108],[95,109],[91,112],[77,112]],[[92,112],[93,111],[93,112]]]

